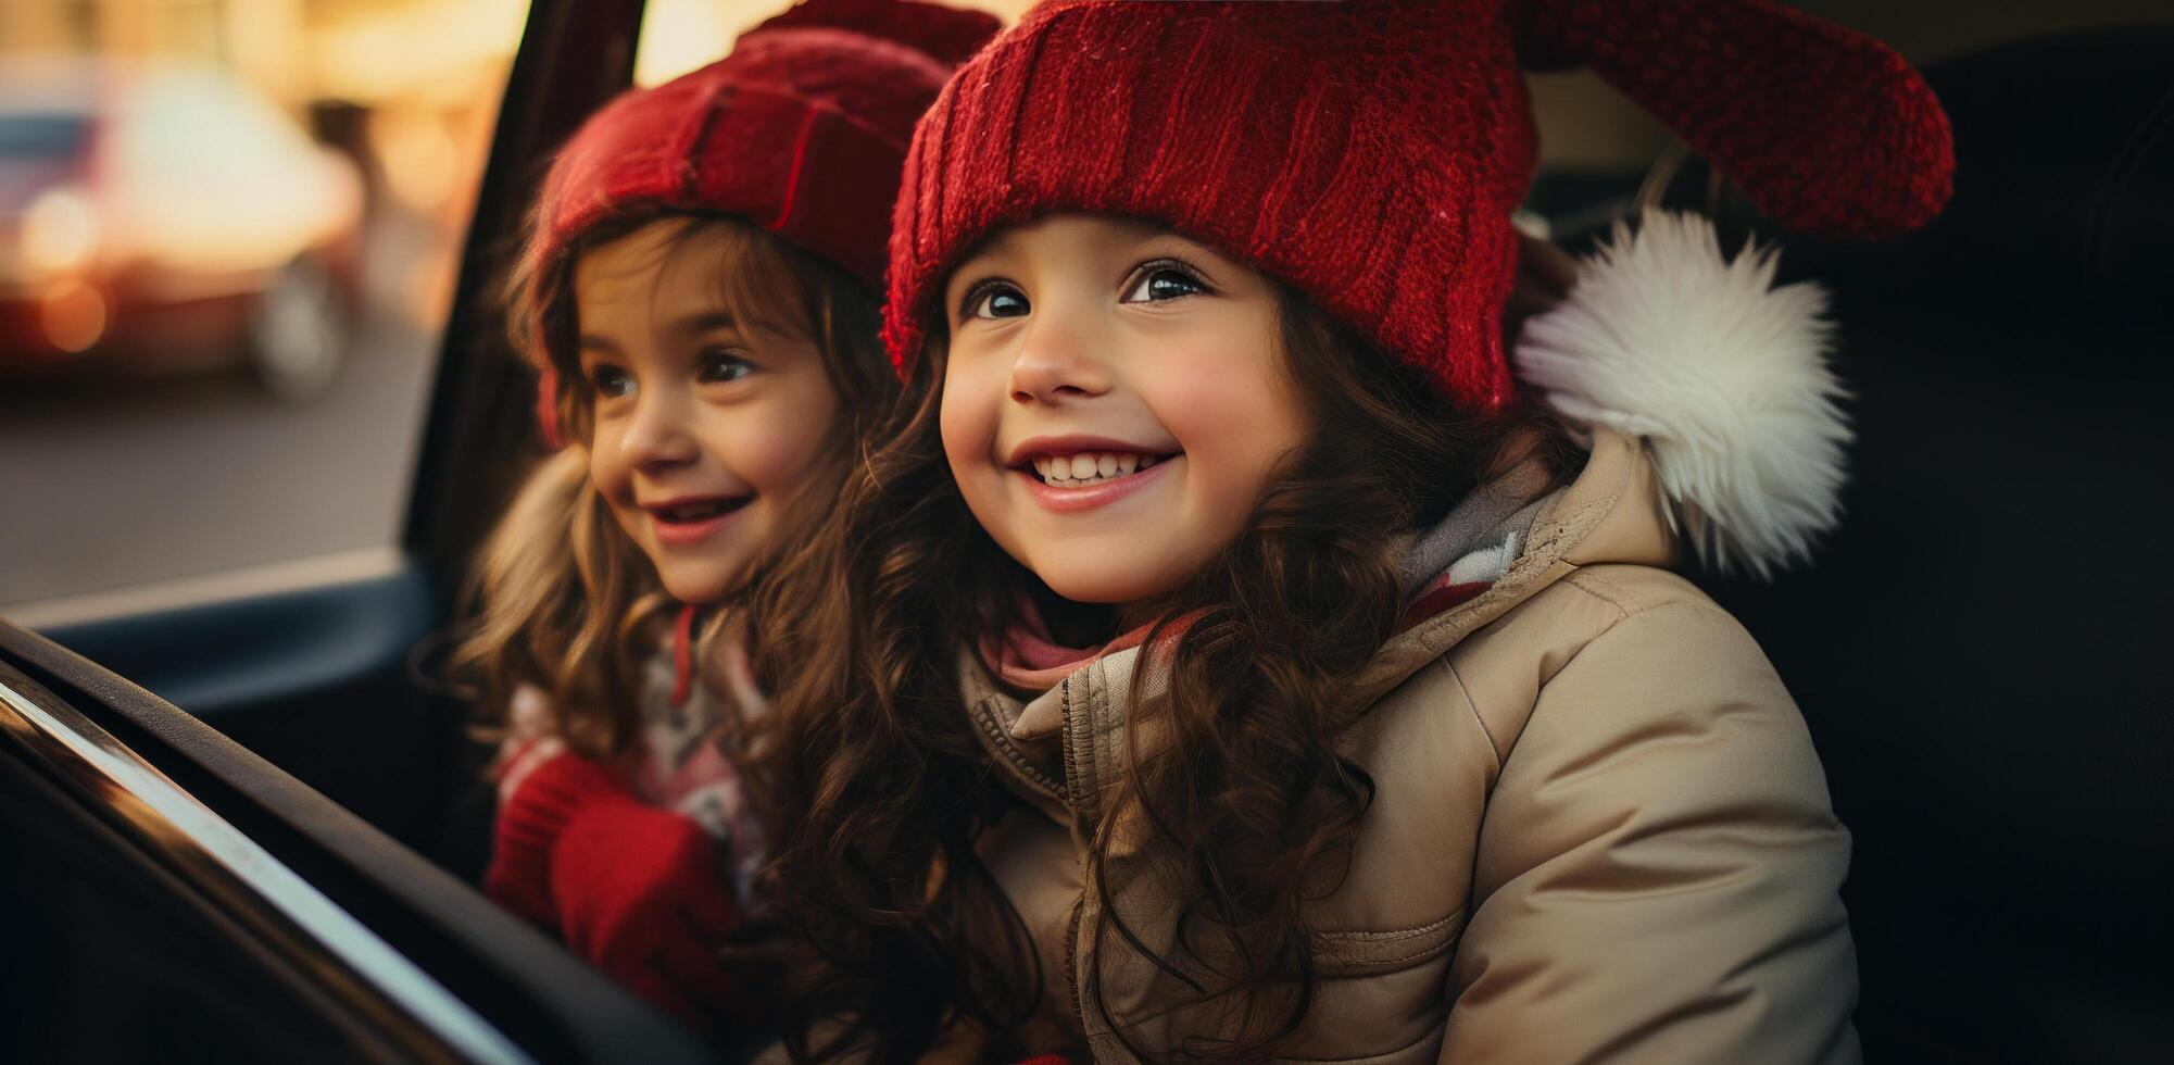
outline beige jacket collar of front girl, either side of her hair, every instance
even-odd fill
[[[1520,476],[1524,474],[1513,472],[1504,480]],[[1487,591],[1389,639],[1359,674],[1354,706],[1372,706],[1465,635],[1580,565],[1667,567],[1678,561],[1678,541],[1670,530],[1644,443],[1604,426],[1594,430],[1591,456],[1567,487],[1526,509],[1517,509],[1515,496],[1504,493],[1500,483],[1480,487],[1474,498],[1483,502],[1487,515],[1500,513],[1500,517],[1467,522],[1472,528],[1502,528],[1504,522],[1530,519],[1515,556]],[[1474,511],[1459,506],[1459,513],[1470,519]],[[1452,513],[1450,522],[1457,519]],[[1407,578],[1417,574],[1417,580],[1409,582],[1424,585],[1428,565],[1454,561],[1457,552],[1446,546],[1470,541],[1444,532],[1444,526],[1420,537],[1407,559],[1430,550],[1433,563],[1424,559],[1413,563]],[[1126,735],[1133,674],[1144,650],[1128,648],[1094,659],[1030,700],[1007,693],[989,678],[972,648],[961,650],[961,696],[974,717],[974,735],[994,756],[1007,787],[1059,824],[1089,832],[1100,817],[1102,800],[1124,778],[1126,748],[1148,750],[1154,743],[1152,735]],[[1157,689],[1157,676],[1141,680],[1141,696],[1154,698],[1161,693]]]

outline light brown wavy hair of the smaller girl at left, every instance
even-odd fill
[[[867,287],[735,215],[637,206],[589,226],[557,263],[520,256],[507,280],[507,328],[528,365],[557,374],[552,415],[570,446],[528,476],[485,541],[467,593],[474,619],[448,672],[474,687],[476,702],[493,717],[504,713],[515,687],[541,689],[550,696],[554,732],[585,754],[611,754],[633,739],[641,669],[678,606],[589,485],[594,396],[580,385],[574,343],[574,263],[652,224],[676,228],[667,248],[696,235],[724,235],[715,265],[720,302],[739,320],[804,335],[822,352],[839,417],[804,489],[791,500],[785,528],[813,528],[824,519],[835,502],[830,487],[854,465],[854,441],[898,393]],[[535,226],[530,217],[530,246]],[[759,559],[752,572],[763,569]],[[700,643],[709,643],[728,615],[728,609],[711,609]]]

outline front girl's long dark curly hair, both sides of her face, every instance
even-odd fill
[[[1339,693],[1396,630],[1402,537],[1526,456],[1554,485],[1583,459],[1541,413],[1454,411],[1296,291],[1278,293],[1278,317],[1317,428],[1244,532],[1159,604],[1148,646],[1163,648],[1167,693],[1135,698],[1130,735],[1154,722],[1170,741],[1133,752],[1089,852],[1113,915],[1113,828],[1148,826],[1189,885],[1174,948],[1148,948],[1163,937],[1122,917],[1085,935],[1228,1006],[1224,1030],[1150,1048],[1091,974],[1091,1002],[1144,1058],[1259,1058],[1304,1019],[1317,985],[1304,904],[1344,878],[1374,795],[1335,752],[1361,711]],[[974,522],[937,424],[941,324],[930,337],[833,522],[752,609],[785,678],[763,769],[783,822],[770,874],[811,950],[789,993],[796,1056],[909,1058],[948,1028],[1002,1032],[1033,1013],[1046,974],[974,850],[1013,800],[970,730],[957,665],[1022,593],[1104,639],[1120,626],[1113,609],[1057,602]]]

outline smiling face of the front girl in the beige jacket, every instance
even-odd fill
[[[1157,226],[1004,228],[952,272],[944,313],[952,476],[980,526],[1074,602],[1183,585],[1311,428],[1272,283]]]

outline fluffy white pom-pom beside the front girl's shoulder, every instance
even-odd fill
[[[1648,211],[1533,317],[1517,374],[1572,426],[1646,437],[1670,526],[1720,569],[1811,554],[1841,517],[1846,396],[1817,285],[1774,287],[1774,252],[1722,256],[1713,224]]]

